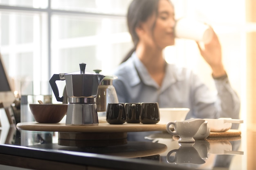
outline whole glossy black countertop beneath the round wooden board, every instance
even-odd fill
[[[166,132],[132,132],[128,133],[127,144],[107,147],[61,146],[56,132],[20,131],[16,127],[6,131],[2,127],[0,154],[98,168],[170,170],[218,166],[243,169],[246,162],[242,161],[247,156],[246,131],[239,137],[209,138],[192,144],[178,143]],[[4,134],[7,134],[5,139]],[[4,161],[1,156],[0,164],[19,166],[11,160]]]

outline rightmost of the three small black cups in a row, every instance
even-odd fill
[[[141,103],[139,120],[143,124],[156,124],[160,120],[158,103]]]

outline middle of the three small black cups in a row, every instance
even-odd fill
[[[141,112],[141,103],[126,103],[126,122],[139,123],[139,114]]]

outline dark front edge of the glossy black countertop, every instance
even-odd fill
[[[84,166],[95,166],[102,168],[111,169],[143,169],[155,170],[157,168],[170,169],[166,166],[162,166],[159,163],[154,163],[152,161],[141,161],[139,159],[119,159],[118,157],[106,156],[94,153],[81,153],[66,150],[54,150],[54,149],[38,149],[30,148],[24,146],[14,146],[14,145],[0,145],[0,153],[27,157],[33,159],[42,159],[49,161],[72,163]],[[0,161],[1,162],[1,161]],[[13,163],[7,164],[13,165]],[[25,167],[29,168],[29,167]]]

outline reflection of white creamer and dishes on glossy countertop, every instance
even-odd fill
[[[166,144],[166,152],[160,154],[162,161],[187,168],[228,168],[234,155],[244,155],[243,151],[238,150],[241,136],[207,138],[192,143],[178,142],[179,137],[166,132],[153,133],[145,138]]]

